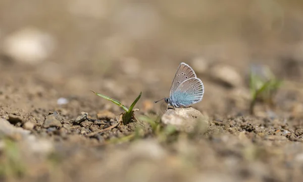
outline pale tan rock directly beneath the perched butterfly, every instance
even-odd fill
[[[173,125],[178,131],[193,132],[198,128],[201,134],[209,127],[208,118],[192,107],[169,109],[162,116],[162,122]]]

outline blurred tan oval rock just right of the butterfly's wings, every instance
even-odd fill
[[[231,66],[216,64],[210,69],[210,76],[230,87],[237,87],[242,84],[241,75]]]

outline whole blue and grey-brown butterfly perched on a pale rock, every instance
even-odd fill
[[[175,109],[198,103],[203,99],[203,95],[203,82],[197,78],[195,72],[188,64],[181,62],[173,79],[169,98],[163,98],[159,101],[164,100],[168,104],[167,109],[170,106]]]

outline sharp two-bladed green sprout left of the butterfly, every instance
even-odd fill
[[[128,123],[131,122],[131,119],[137,120],[134,116],[134,111],[138,111],[138,109],[134,109],[136,103],[139,101],[139,99],[141,98],[142,92],[140,92],[139,96],[136,98],[136,100],[131,104],[131,106],[129,107],[129,109],[127,109],[127,107],[125,107],[124,105],[122,105],[119,101],[110,98],[108,96],[104,96],[102,94],[98,94],[96,92],[94,92],[93,90],[90,90],[91,92],[93,92],[95,95],[102,97],[108,101],[111,101],[113,103],[115,103],[117,106],[119,106],[120,108],[122,108],[125,113],[122,114],[122,122],[124,125],[127,125]]]

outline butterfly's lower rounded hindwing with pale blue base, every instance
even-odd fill
[[[200,102],[204,95],[204,84],[199,78],[189,78],[183,81],[171,95],[171,101],[176,106],[189,106]]]

